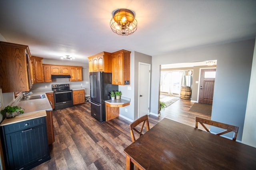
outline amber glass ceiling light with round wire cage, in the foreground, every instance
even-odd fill
[[[120,36],[128,36],[137,30],[137,20],[134,13],[127,9],[118,9],[110,21],[112,31]]]

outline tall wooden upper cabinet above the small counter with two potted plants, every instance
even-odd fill
[[[112,84],[130,85],[130,53],[124,49],[112,53]]]

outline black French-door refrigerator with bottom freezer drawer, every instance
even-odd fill
[[[90,72],[91,114],[100,122],[106,121],[105,100],[111,99],[110,91],[118,91],[118,85],[112,85],[111,73]]]

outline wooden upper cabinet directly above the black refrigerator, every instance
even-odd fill
[[[102,52],[88,57],[89,72],[103,71],[106,73],[112,72],[111,67],[111,53]]]

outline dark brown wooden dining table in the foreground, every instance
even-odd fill
[[[126,170],[256,169],[256,148],[167,118],[124,153]]]

